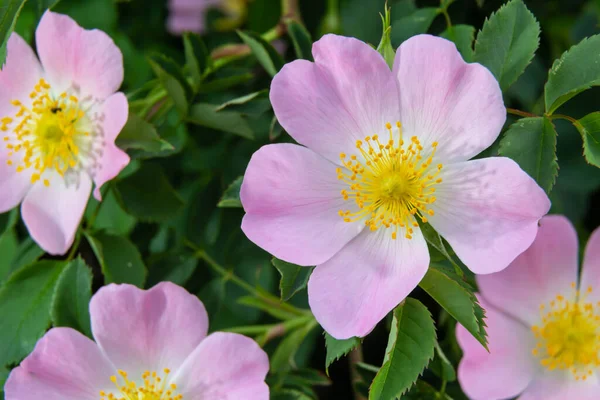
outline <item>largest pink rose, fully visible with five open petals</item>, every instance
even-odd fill
[[[254,154],[242,229],[278,258],[317,266],[310,306],[331,335],[366,335],[417,286],[429,265],[418,223],[477,273],[529,247],[544,191],[508,158],[467,161],[506,118],[486,68],[429,35],[404,42],[393,71],[353,38],[326,35],[313,55],[273,80],[275,114],[302,146]]]

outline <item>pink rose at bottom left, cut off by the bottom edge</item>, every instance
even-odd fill
[[[268,400],[267,354],[235,333],[206,336],[196,296],[163,282],[109,285],[90,303],[96,343],[50,330],[4,388],[6,400]]]

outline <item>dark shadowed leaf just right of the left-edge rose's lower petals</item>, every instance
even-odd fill
[[[158,164],[143,163],[136,172],[117,181],[115,188],[123,209],[142,221],[168,221],[184,206]]]

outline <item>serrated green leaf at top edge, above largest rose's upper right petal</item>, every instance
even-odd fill
[[[540,25],[521,0],[512,0],[485,21],[477,35],[473,61],[486,66],[506,90],[539,45]]]

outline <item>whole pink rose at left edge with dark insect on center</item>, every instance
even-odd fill
[[[52,12],[36,43],[39,61],[12,34],[0,71],[0,213],[22,202],[31,237],[64,254],[92,182],[100,200],[100,187],[129,163],[114,144],[128,116],[125,95],[115,93],[123,56],[104,32]]]

